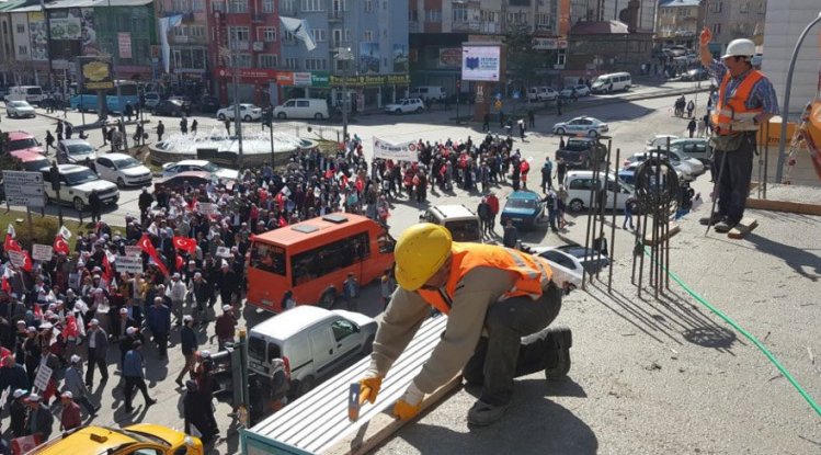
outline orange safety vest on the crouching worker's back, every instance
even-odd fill
[[[456,285],[475,268],[502,269],[518,275],[513,287],[504,293],[500,300],[517,296],[529,296],[535,300],[541,296],[543,289],[547,287],[552,277],[550,263],[545,259],[525,254],[512,248],[454,242],[451,251],[453,254],[451,275],[447,277],[445,288],[440,291],[420,288],[417,291],[425,302],[445,315],[451,312],[451,299],[456,291]]]

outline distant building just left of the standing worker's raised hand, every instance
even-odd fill
[[[703,0],[662,0],[655,22],[657,43],[695,49],[704,27],[704,16]]]

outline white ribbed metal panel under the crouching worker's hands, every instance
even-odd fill
[[[376,402],[363,405],[358,421],[347,420],[347,389],[351,383],[365,374],[370,363],[369,357],[362,359],[246,431],[248,434],[243,434],[243,442],[247,439],[265,441],[270,446],[281,447],[283,451],[318,453],[338,446],[343,440],[350,440],[349,436],[355,434],[362,425],[383,410],[391,407],[404,394],[412,378],[430,359],[446,323],[446,317],[431,318],[423,322],[383,382]]]

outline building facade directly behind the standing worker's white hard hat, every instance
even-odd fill
[[[705,0],[704,9],[704,25],[712,32],[714,55],[721,55],[736,38],[763,43],[767,0]]]

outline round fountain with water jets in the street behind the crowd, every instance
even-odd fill
[[[271,162],[271,133],[253,132],[242,135],[242,166],[254,168]],[[274,166],[287,162],[295,150],[310,150],[318,143],[303,139],[285,133],[274,133]],[[213,127],[210,132],[198,130],[196,134],[175,133],[167,139],[149,146],[151,161],[156,164],[175,162],[184,159],[207,159],[219,166],[237,167],[239,143],[237,136],[228,136],[224,129]]]

